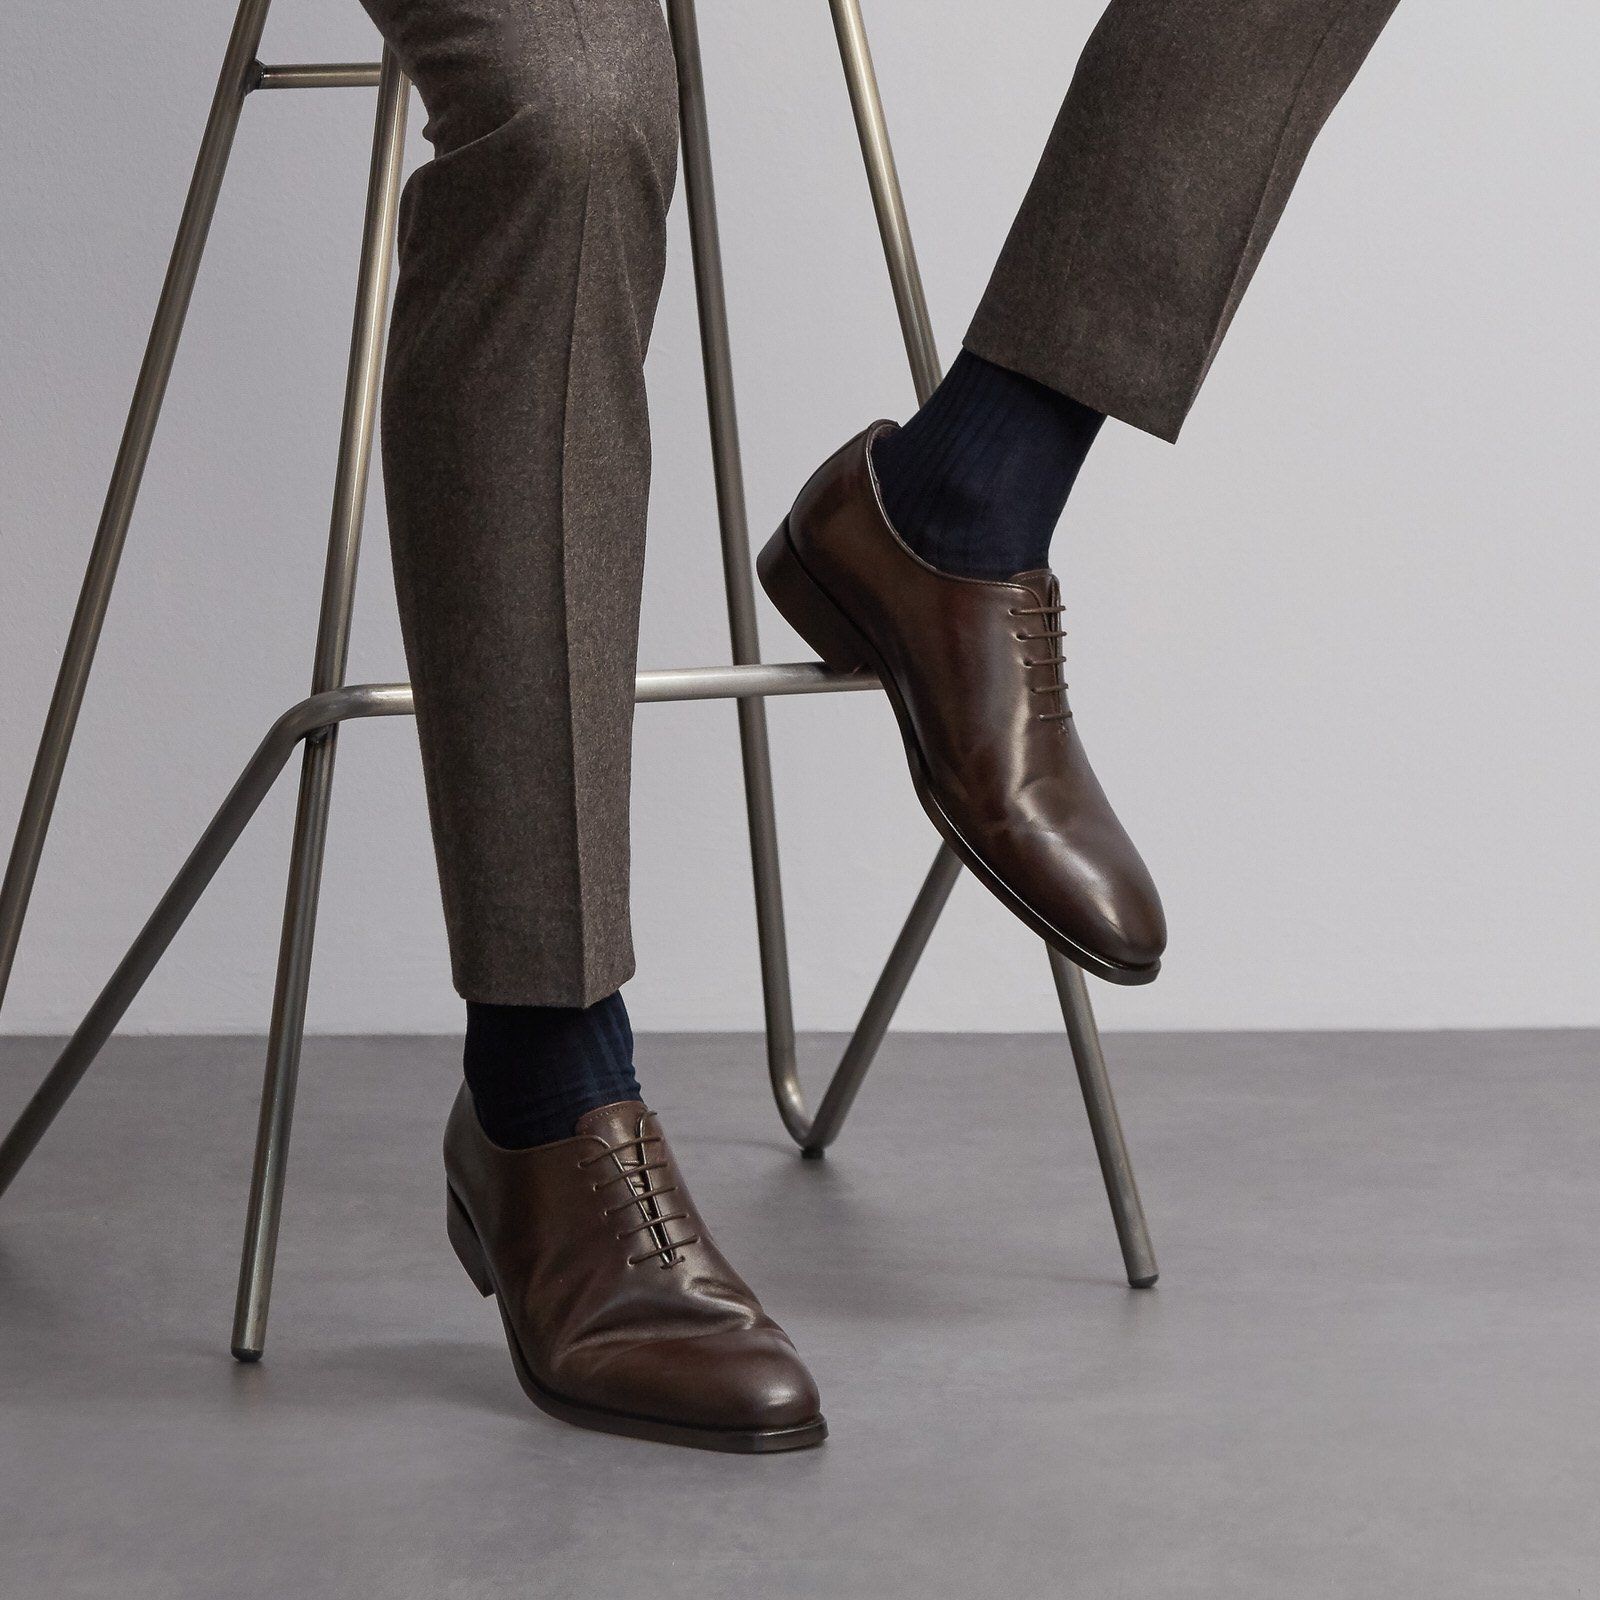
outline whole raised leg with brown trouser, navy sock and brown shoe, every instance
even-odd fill
[[[1106,414],[1178,435],[1395,5],[1114,0],[949,376],[826,462],[762,557],[813,648],[885,678],[946,842],[1114,981],[1155,976],[1165,920],[1072,723],[1050,536]]]

